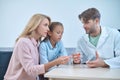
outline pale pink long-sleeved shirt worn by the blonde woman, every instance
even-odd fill
[[[5,80],[36,80],[45,73],[44,65],[39,65],[38,43],[34,38],[20,38],[15,45]]]

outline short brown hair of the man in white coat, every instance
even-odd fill
[[[100,12],[96,9],[96,8],[89,8],[87,10],[85,10],[84,12],[82,12],[81,14],[79,14],[79,19],[81,20],[81,18],[83,19],[83,21],[86,23],[88,22],[88,20],[92,19],[100,19],[101,15]]]

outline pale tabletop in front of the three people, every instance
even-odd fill
[[[88,68],[86,65],[60,65],[47,72],[49,80],[120,80],[120,69]]]

